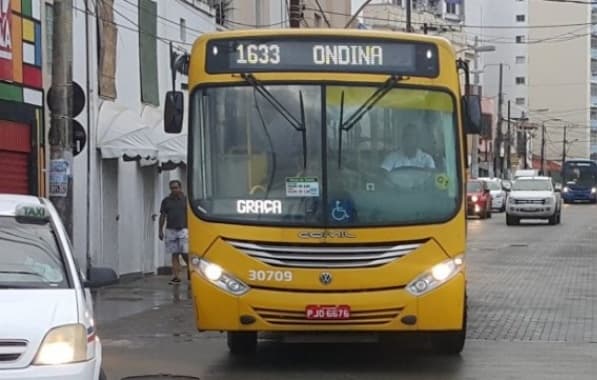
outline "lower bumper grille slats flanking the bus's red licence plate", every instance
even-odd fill
[[[281,310],[269,308],[253,308],[266,322],[272,325],[383,325],[396,319],[400,308],[377,310],[353,310],[349,319],[313,320],[307,319],[304,310]]]

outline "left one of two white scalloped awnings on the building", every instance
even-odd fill
[[[158,149],[150,128],[137,112],[111,101],[102,101],[98,116],[97,146],[103,158],[156,158]]]

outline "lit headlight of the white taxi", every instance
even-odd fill
[[[34,364],[59,365],[87,360],[87,333],[83,325],[56,327],[45,336]]]

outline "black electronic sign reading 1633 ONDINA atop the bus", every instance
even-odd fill
[[[437,46],[387,39],[217,39],[208,42],[209,74],[354,72],[436,77]]]

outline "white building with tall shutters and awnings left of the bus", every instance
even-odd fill
[[[76,255],[82,267],[156,272],[170,265],[157,238],[160,202],[168,182],[186,176],[186,127],[162,131],[169,44],[189,50],[215,30],[214,11],[197,0],[75,0],[74,8],[73,80],[88,100],[76,118],[87,132],[73,163]],[[179,75],[177,88],[185,81]]]

